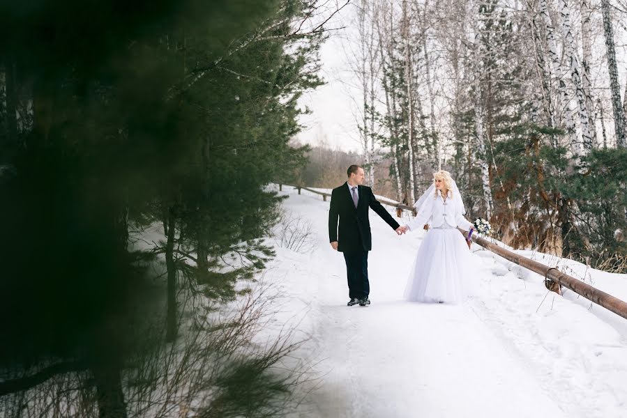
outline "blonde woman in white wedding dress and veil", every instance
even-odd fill
[[[430,224],[411,269],[405,299],[414,302],[462,302],[467,294],[464,279],[471,274],[471,256],[457,227],[474,231],[464,218],[466,210],[460,191],[448,171],[433,174],[434,183],[414,203],[416,217],[404,231],[423,229]]]

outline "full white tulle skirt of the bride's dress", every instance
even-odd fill
[[[430,229],[416,254],[405,300],[459,304],[471,293],[470,250],[457,229]]]

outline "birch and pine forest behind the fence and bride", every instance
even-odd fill
[[[411,204],[448,169],[499,240],[624,272],[625,6],[358,1],[347,65],[368,182]]]

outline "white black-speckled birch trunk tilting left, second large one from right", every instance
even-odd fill
[[[566,63],[571,70],[571,79],[575,85],[575,93],[577,94],[577,104],[579,108],[579,122],[582,132],[582,142],[585,152],[592,149],[593,138],[590,132],[590,114],[587,109],[587,97],[582,86],[579,59],[575,51],[575,38],[573,36],[573,28],[571,26],[571,8],[568,6],[567,0],[561,0],[561,16],[562,29],[564,31],[565,45],[564,52]]]

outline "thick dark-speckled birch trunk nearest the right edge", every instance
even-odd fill
[[[610,0],[601,0],[603,12],[603,32],[605,33],[605,46],[607,47],[607,68],[610,71],[610,94],[612,95],[612,108],[614,109],[614,130],[616,132],[617,146],[627,148],[625,139],[625,114],[623,111],[621,90],[618,80],[616,63],[616,49],[614,48],[614,29],[612,28],[612,15],[610,13]]]

